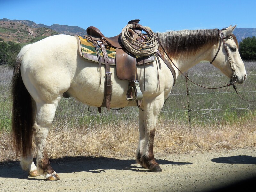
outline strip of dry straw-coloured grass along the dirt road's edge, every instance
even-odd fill
[[[256,118],[230,125],[188,127],[168,121],[157,125],[154,152],[187,153],[256,146]],[[137,123],[118,126],[109,123],[92,129],[52,127],[47,143],[50,158],[64,156],[135,157],[138,144]],[[0,162],[16,160],[10,132],[1,132]],[[34,156],[36,150],[34,149]],[[19,160],[19,157],[18,157]]]

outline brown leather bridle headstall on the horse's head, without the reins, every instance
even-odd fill
[[[210,62],[210,64],[212,64],[212,62],[215,60],[215,58],[217,57],[219,51],[220,51],[220,47],[221,47],[221,44],[223,43],[224,47],[225,47],[225,51],[227,53],[227,56],[228,56],[228,61],[230,63],[230,68],[232,69],[233,73],[232,73],[232,76],[230,78],[230,85],[233,85],[236,83],[237,81],[237,78],[236,78],[236,74],[235,74],[235,67],[234,67],[234,64],[232,62],[232,59],[228,53],[228,48],[227,48],[227,44],[225,43],[225,39],[233,39],[234,40],[234,37],[232,35],[229,35],[228,37],[225,37],[223,36],[223,33],[222,33],[222,30],[219,30],[219,34],[220,34],[220,45],[219,45],[219,48],[218,48],[218,51],[216,52],[214,58],[212,59],[212,61]]]

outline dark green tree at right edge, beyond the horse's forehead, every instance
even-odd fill
[[[239,44],[241,57],[256,57],[256,37],[246,37]]]

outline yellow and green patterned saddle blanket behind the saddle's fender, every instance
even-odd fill
[[[76,35],[76,38],[78,38],[79,43],[80,43],[80,46],[78,47],[80,55],[84,59],[99,63],[94,44],[84,36]],[[100,61],[102,64],[105,64],[105,60],[103,58],[103,53],[101,51],[101,48],[98,44],[96,44],[96,46],[99,50]],[[113,47],[110,47],[110,48],[108,47],[108,49],[106,49],[106,51],[107,51],[107,55],[108,55],[109,64],[116,65],[116,49]]]

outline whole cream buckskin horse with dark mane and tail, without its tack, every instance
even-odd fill
[[[156,36],[163,46],[162,51],[169,56],[168,60],[172,58],[176,78],[200,61],[209,61],[231,80],[235,78],[235,83],[242,84],[246,70],[238,52],[237,39],[232,34],[235,27],[169,31],[156,33]],[[115,66],[111,65],[110,71],[111,107],[136,106],[136,101],[126,99],[127,81],[117,77]],[[11,82],[12,134],[15,150],[22,152],[20,166],[30,176],[43,175],[46,180],[60,180],[50,165],[46,149],[46,137],[55,110],[63,95],[100,107],[104,99],[104,86],[99,86],[100,73],[104,81],[105,68],[101,71],[95,63],[81,57],[74,36],[54,35],[21,49]],[[172,91],[174,76],[161,58],[150,65],[138,66],[137,73],[139,86],[143,87],[144,83],[146,86],[141,90],[136,160],[151,172],[161,172],[153,153],[156,122]],[[37,149],[36,165],[32,153],[33,136]]]

